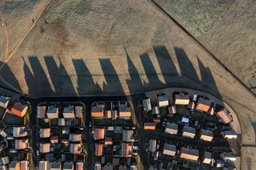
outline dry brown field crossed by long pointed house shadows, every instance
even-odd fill
[[[151,1],[52,1],[0,76],[31,97],[198,89],[231,106],[255,145],[255,96]]]

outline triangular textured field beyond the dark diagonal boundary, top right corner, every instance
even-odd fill
[[[248,87],[256,87],[255,1],[155,1]]]

